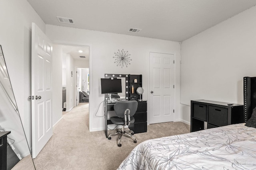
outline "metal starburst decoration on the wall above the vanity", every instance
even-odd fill
[[[116,56],[114,56],[113,58],[115,58],[114,63],[116,63],[116,66],[121,66],[121,68],[124,67],[124,65],[130,64],[130,61],[132,61],[132,59],[130,59],[130,54],[128,54],[128,51],[124,51],[124,49],[122,49],[121,51],[118,50],[117,53],[115,53]]]

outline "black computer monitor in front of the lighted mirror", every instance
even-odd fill
[[[122,82],[119,78],[101,78],[101,94],[122,93]]]

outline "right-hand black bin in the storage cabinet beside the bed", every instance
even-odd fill
[[[228,125],[228,109],[209,106],[208,122],[217,126]]]

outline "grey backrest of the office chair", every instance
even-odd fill
[[[130,109],[130,116],[133,116],[137,111],[137,107],[138,102],[136,100],[120,101],[114,104],[114,111],[118,117],[124,117],[124,111]]]

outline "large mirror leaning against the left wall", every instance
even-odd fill
[[[0,169],[35,170],[0,45]]]

